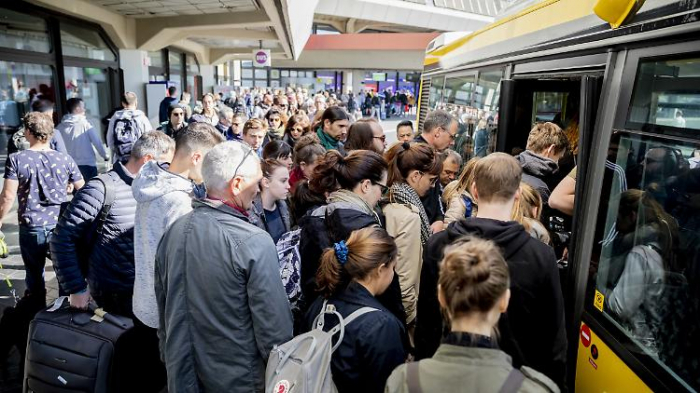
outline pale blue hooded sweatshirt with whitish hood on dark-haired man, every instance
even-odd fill
[[[85,115],[65,115],[61,120],[61,124],[56,126],[56,129],[63,137],[63,143],[66,145],[68,155],[73,157],[76,164],[97,166],[95,151],[92,149],[93,146],[95,146],[100,156],[105,161],[107,160],[107,152],[102,146],[102,141],[97,135],[95,128],[85,118]]]

